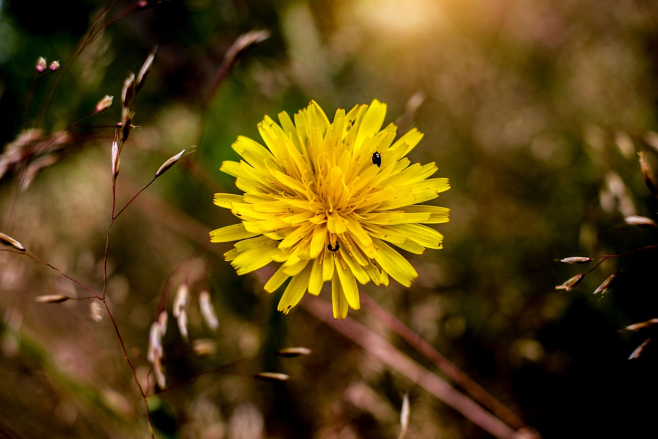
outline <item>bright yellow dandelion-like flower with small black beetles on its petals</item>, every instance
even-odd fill
[[[422,203],[450,188],[428,179],[435,163],[411,164],[405,156],[422,138],[416,129],[395,142],[397,127],[382,128],[386,104],[372,101],[331,123],[316,102],[295,115],[265,117],[263,146],[240,136],[233,149],[242,161],[224,161],[243,195],[215,194],[241,223],[210,233],[214,243],[238,241],[224,254],[238,274],[270,262],[281,266],[265,284],[275,291],[288,278],[278,310],[288,313],[306,291],[318,295],[331,281],[334,318],[359,309],[357,282],[409,287],[418,277],[395,245],[421,254],[441,249],[443,235],[422,223],[444,223],[449,210]]]

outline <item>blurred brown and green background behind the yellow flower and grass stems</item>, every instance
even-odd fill
[[[131,5],[118,1],[110,15]],[[237,276],[222,258],[230,244],[208,243],[209,231],[236,222],[212,203],[215,192],[238,192],[218,171],[238,157],[236,136],[258,139],[264,115],[294,113],[311,99],[331,117],[373,98],[388,103],[387,122],[425,133],[410,159],[436,161],[436,176],[451,180],[434,204],[452,214],[437,227],[444,249],[408,255],[420,274],[411,288],[392,281],[361,291],[544,438],[655,434],[658,351],[649,343],[628,360],[655,334],[624,330],[658,317],[655,254],[606,260],[571,291],[555,286],[593,268],[556,259],[619,254],[657,238],[624,223],[656,215],[637,155],[646,151],[655,165],[656,3],[166,1],[111,24],[67,64],[103,7],[0,1],[0,148],[7,159],[26,128],[61,132],[105,94],[114,105],[84,123],[116,124],[124,79],[157,45],[133,121],[139,129],[122,151],[118,206],[164,160],[193,152],[114,223],[107,294],[143,377],[161,298],[191,276],[191,341],[172,318],[164,337],[167,382],[181,384],[150,401],[158,437],[396,438],[407,392],[408,438],[490,437],[303,306],[277,312],[277,294],[262,289],[272,268]],[[213,92],[228,47],[251,30],[270,38]],[[39,56],[65,69],[35,82]],[[114,129],[69,134],[27,187],[19,187],[25,161],[0,175],[0,230],[101,291]],[[592,295],[615,272],[611,290]],[[197,308],[206,288],[216,331]],[[88,301],[34,302],[55,293],[84,295],[46,266],[0,252],[0,436],[147,437],[109,319],[95,322]],[[348,318],[441,374],[367,311]],[[195,356],[199,339],[216,351]],[[297,345],[313,355],[266,355]],[[187,380],[258,355],[229,369],[238,374]],[[291,379],[240,376],[262,370]]]

